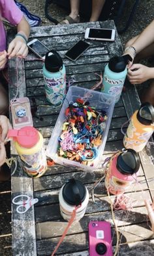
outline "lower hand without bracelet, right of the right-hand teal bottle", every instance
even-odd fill
[[[150,68],[142,64],[132,64],[131,68],[128,69],[127,77],[132,84],[144,83],[151,78],[150,71]]]

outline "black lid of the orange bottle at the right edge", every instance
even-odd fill
[[[154,107],[149,102],[142,104],[138,110],[137,119],[143,125],[154,123]]]

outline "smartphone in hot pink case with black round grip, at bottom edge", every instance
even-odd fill
[[[111,225],[108,221],[90,221],[89,256],[113,256]]]

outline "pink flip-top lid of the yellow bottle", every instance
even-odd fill
[[[39,140],[37,129],[31,126],[22,127],[20,130],[10,129],[7,137],[13,137],[23,148],[32,148]]]

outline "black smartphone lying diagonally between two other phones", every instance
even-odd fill
[[[65,56],[69,58],[69,60],[76,61],[89,47],[89,43],[80,40],[65,53]]]

